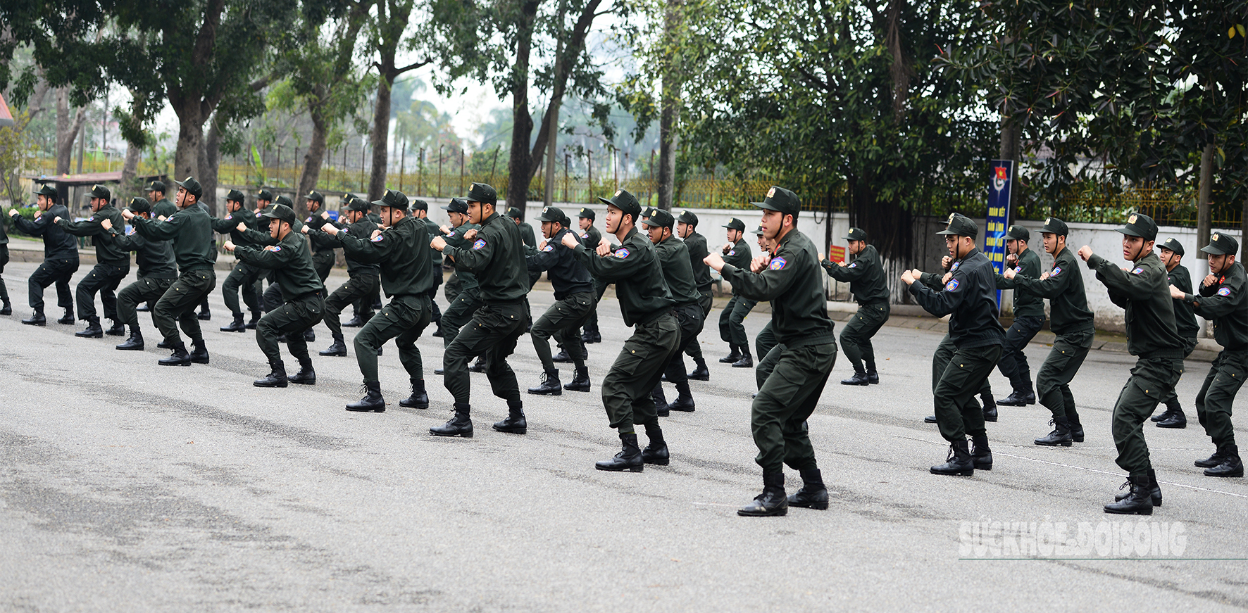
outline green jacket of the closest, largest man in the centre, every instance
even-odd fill
[[[741,249],[738,243],[736,249]],[[836,343],[835,325],[827,316],[824,275],[819,269],[815,243],[796,229],[789,230],[761,273],[725,263],[720,274],[733,284],[733,293],[751,300],[771,300],[771,331],[792,348]]]

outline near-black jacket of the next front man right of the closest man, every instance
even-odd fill
[[[952,278],[940,290],[911,283],[910,294],[920,306],[948,319],[948,339],[958,349],[1001,345],[1006,331],[997,319],[997,282],[992,262],[971,249],[950,268]]]

